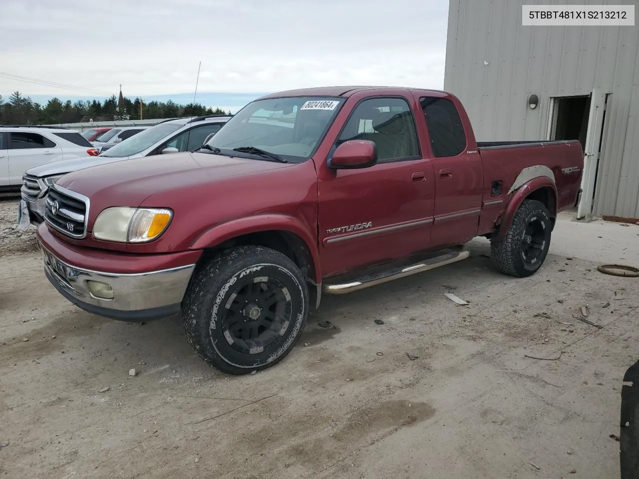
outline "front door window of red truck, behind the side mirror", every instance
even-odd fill
[[[378,162],[420,156],[415,120],[403,98],[371,98],[357,105],[336,146],[349,140],[374,142]]]

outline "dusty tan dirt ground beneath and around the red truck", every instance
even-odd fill
[[[639,279],[596,267],[639,262],[635,225],[562,215],[532,278],[495,272],[476,240],[466,261],[326,296],[284,361],[242,377],[199,360],[177,320],[73,307],[1,231],[0,476],[619,478]],[[586,305],[602,328],[576,319]]]

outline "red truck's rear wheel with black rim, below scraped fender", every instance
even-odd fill
[[[537,231],[537,256],[527,260],[531,229]],[[543,264],[550,247],[552,222],[548,209],[540,201],[524,200],[501,241],[491,240],[490,252],[497,270],[518,278],[533,275]]]

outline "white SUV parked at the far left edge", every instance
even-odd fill
[[[75,130],[0,126],[0,190],[19,191],[22,175],[31,167],[97,154],[98,151]]]

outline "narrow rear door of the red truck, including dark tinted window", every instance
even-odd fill
[[[435,170],[432,246],[461,245],[477,236],[479,229],[484,183],[481,156],[473,135],[465,134],[451,100],[424,96],[419,102]]]

